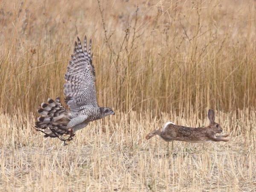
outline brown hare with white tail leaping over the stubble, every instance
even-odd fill
[[[208,111],[208,118],[210,124],[208,127],[201,128],[192,128],[192,127],[183,127],[180,125],[175,125],[172,122],[167,122],[163,129],[157,129],[152,131],[146,136],[146,139],[149,140],[155,135],[159,135],[165,141],[186,141],[190,143],[204,143],[206,141],[229,141],[228,134],[216,136],[216,133],[221,133],[221,126],[214,122],[215,114],[212,109]]]

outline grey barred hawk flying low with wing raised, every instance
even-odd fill
[[[84,37],[84,48],[79,38],[65,73],[64,95],[70,109],[61,105],[59,97],[48,99],[38,108],[38,121],[35,128],[44,133],[44,137],[58,137],[64,141],[72,140],[76,131],[89,122],[114,115],[111,108],[99,107],[95,89],[95,68],[91,54],[92,41],[87,49],[87,38]]]

